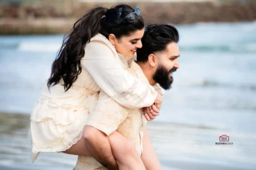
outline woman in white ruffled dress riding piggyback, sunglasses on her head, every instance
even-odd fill
[[[140,10],[128,5],[93,8],[74,24],[31,113],[33,161],[39,152],[90,156],[81,137],[100,90],[127,108],[149,106],[148,120],[157,115],[154,103],[161,103],[161,95],[125,71],[118,57],[133,57],[142,46],[143,32]]]

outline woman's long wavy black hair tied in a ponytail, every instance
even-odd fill
[[[133,22],[125,22],[125,17],[133,11],[134,9],[126,4],[120,4],[109,10],[98,6],[77,20],[72,32],[63,39],[60,51],[52,63],[51,76],[47,82],[48,89],[60,83],[61,78],[64,81],[65,91],[72,87],[82,71],[80,60],[84,56],[84,47],[96,34],[100,33],[108,38],[112,33],[116,38],[120,38],[143,29],[142,17],[136,16]]]

